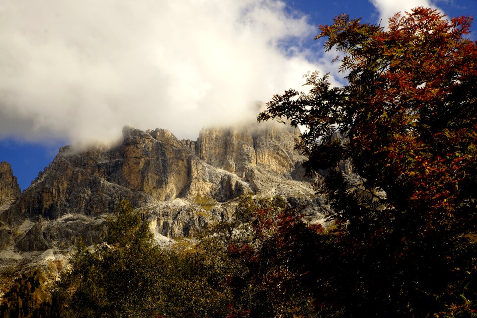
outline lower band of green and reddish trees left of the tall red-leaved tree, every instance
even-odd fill
[[[77,244],[43,317],[314,317],[313,299],[297,284],[301,272],[288,252],[299,264],[299,255],[315,246],[283,238],[316,236],[322,228],[300,222],[279,199],[238,201],[233,220],[206,231],[194,248],[167,250],[122,202],[107,221],[104,243]]]

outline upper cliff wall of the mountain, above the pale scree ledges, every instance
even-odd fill
[[[204,129],[191,142],[164,129],[125,127],[123,142],[115,147],[62,148],[0,220],[14,224],[22,217],[95,216],[112,212],[122,199],[140,208],[198,196],[225,202],[267,191],[308,195],[310,184],[297,181],[305,180],[296,172],[303,161],[293,150],[298,135],[289,126],[255,124]]]

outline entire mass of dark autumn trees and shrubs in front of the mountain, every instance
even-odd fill
[[[416,8],[389,29],[321,26],[347,84],[310,74],[260,120],[303,125],[298,149],[332,229],[285,202],[238,199],[186,251],[162,250],[127,202],[79,242],[49,317],[477,317],[477,47],[470,18]],[[336,138],[339,131],[342,138]],[[351,159],[362,181],[338,169]],[[45,318],[45,317],[44,317]]]

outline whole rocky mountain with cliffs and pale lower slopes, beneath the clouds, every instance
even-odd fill
[[[98,242],[101,223],[123,199],[161,244],[230,218],[241,194],[281,196],[322,221],[327,207],[305,177],[298,137],[298,129],[274,123],[207,128],[197,141],[127,126],[118,145],[61,148],[21,194],[2,162],[0,279],[37,267],[56,275],[76,239]]]

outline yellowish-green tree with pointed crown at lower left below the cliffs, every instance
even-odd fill
[[[53,296],[58,317],[152,317],[159,273],[150,271],[161,259],[148,224],[123,201],[105,222],[103,243],[88,249],[76,245],[70,269],[61,275]]]

